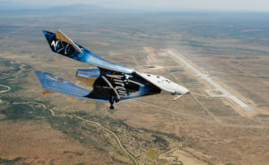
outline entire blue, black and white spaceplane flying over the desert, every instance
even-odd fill
[[[157,75],[138,72],[101,58],[97,54],[74,43],[63,32],[43,31],[51,50],[80,62],[87,62],[96,68],[78,69],[76,78],[92,88],[88,91],[71,82],[48,72],[36,71],[43,87],[43,94],[60,93],[84,99],[113,103],[135,97],[157,94],[180,95],[188,94],[186,87]],[[176,98],[176,99],[177,99]]]

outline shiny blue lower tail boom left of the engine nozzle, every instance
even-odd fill
[[[71,82],[66,81],[64,78],[57,77],[51,73],[36,71],[36,74],[39,77],[42,87],[46,91],[45,94],[48,94],[48,91],[76,97],[84,97],[85,95],[90,94],[90,91],[78,87]]]

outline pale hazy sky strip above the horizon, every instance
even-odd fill
[[[94,4],[114,9],[149,11],[269,12],[269,0],[0,0],[0,9],[45,8],[68,4]]]

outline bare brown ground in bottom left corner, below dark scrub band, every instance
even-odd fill
[[[0,158],[22,158],[16,164],[108,164],[111,161],[108,155],[97,152],[91,145],[80,144],[44,121],[2,121],[0,135]]]

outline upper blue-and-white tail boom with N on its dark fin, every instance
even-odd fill
[[[108,62],[99,55],[92,54],[91,51],[82,47],[82,45],[74,43],[74,41],[72,41],[69,37],[66,37],[60,30],[56,30],[56,33],[43,30],[43,33],[48,40],[48,45],[51,50],[57,54],[62,54],[74,60],[90,63],[107,70],[114,70],[128,74],[134,72],[132,69],[113,62]]]

